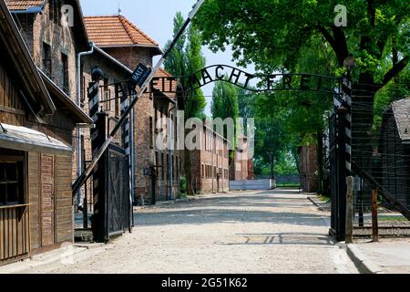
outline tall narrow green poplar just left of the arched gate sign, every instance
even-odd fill
[[[182,14],[177,12],[174,17],[174,37],[184,22]],[[188,32],[180,36],[176,47],[172,49],[169,57],[165,60],[165,69],[173,76],[186,77],[203,68],[206,60],[201,53],[201,41],[198,29],[194,26],[189,26]],[[170,46],[170,43],[171,41],[169,40],[165,49]],[[189,88],[186,78],[182,78],[181,82],[184,89],[184,102],[179,106],[185,111],[185,121],[194,117],[203,119],[205,117],[206,99],[202,90]],[[184,151],[184,169],[187,178],[187,193],[192,195],[190,151],[188,150]]]

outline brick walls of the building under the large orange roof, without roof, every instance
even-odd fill
[[[129,69],[133,70],[139,63],[143,63],[152,67],[153,53],[149,48],[141,47],[104,47],[105,52],[110,56],[118,59]],[[102,68],[104,71],[104,68]],[[167,155],[169,151],[159,151],[156,149],[155,141],[157,135],[155,135],[155,127],[157,116],[160,118],[160,112],[162,111],[163,117],[169,112],[172,105],[167,99],[155,98],[152,93],[142,95],[138,100],[134,110],[134,163],[135,163],[135,190],[134,197],[138,204],[150,204],[152,202],[152,188],[151,178],[146,175],[146,172],[150,167],[155,165],[161,166],[159,169],[158,180],[156,183],[156,200],[164,201],[167,199],[169,193],[169,168]],[[157,115],[155,112],[157,111]],[[172,115],[176,116],[176,110],[172,112]],[[151,128],[150,128],[151,127]],[[167,133],[166,125],[163,127],[165,133]],[[156,156],[158,158],[156,158]],[[179,151],[171,151],[171,161],[174,159],[174,180],[172,181],[172,194],[173,197],[179,195],[179,176],[177,172],[177,162],[180,161]],[[156,162],[158,160],[158,162]],[[163,170],[163,171],[162,171]],[[163,173],[162,173],[163,172]],[[178,169],[178,173],[180,170]]]

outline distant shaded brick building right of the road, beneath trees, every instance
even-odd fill
[[[317,192],[318,166],[316,146],[311,145],[299,147],[299,160],[303,192]]]

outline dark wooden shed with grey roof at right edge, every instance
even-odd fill
[[[385,111],[380,133],[381,169],[377,178],[410,208],[410,98]]]

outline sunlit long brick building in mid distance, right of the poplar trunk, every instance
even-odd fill
[[[200,137],[200,150],[190,152],[192,190],[194,193],[228,192],[228,142],[205,125]]]

